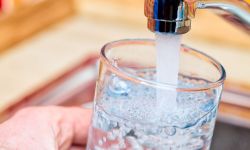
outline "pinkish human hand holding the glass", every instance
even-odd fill
[[[90,120],[83,108],[25,108],[0,125],[0,150],[84,149]]]

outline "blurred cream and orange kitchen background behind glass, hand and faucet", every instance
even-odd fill
[[[100,48],[154,37],[143,7],[144,0],[0,0],[0,120],[26,106],[91,101]],[[250,149],[249,32],[199,10],[183,43],[227,71],[212,149]]]

